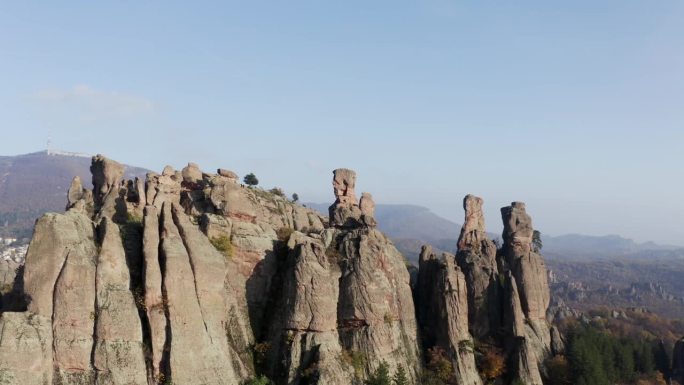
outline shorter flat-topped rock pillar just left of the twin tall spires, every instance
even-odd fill
[[[418,322],[425,348],[439,347],[451,360],[459,385],[482,384],[468,331],[468,293],[466,279],[455,257],[437,257],[423,246],[416,283]]]

